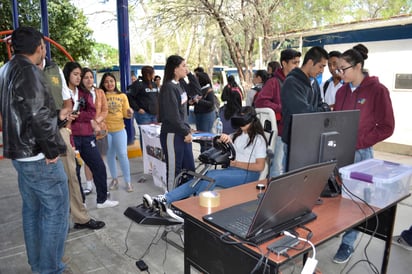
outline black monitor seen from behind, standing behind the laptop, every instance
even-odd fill
[[[353,164],[359,110],[292,115],[287,170],[336,160],[337,168]]]

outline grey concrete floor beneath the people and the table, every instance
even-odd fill
[[[412,165],[410,156],[377,152],[375,157]],[[135,265],[139,258],[144,259],[151,274],[183,273],[183,253],[160,238],[165,227],[139,225],[123,215],[127,207],[141,203],[144,193],[155,195],[162,192],[153,185],[149,175],[143,174],[142,158],[131,159],[130,163],[135,192],[127,193],[124,185],[112,191],[112,199],[120,201],[118,207],[96,209],[95,193],[87,196],[90,215],[105,221],[106,227],[96,231],[70,229],[66,255],[71,257],[68,265],[73,273],[140,273]],[[142,178],[146,180],[138,183]],[[120,181],[123,182],[122,178]],[[30,273],[22,235],[16,172],[9,160],[0,160],[0,182],[0,274]],[[411,207],[412,198],[399,204],[395,234],[412,225]],[[179,242],[176,233],[169,233],[169,237]],[[359,237],[355,255],[347,265],[331,261],[340,243],[339,237],[317,247],[319,269],[322,273],[347,273],[354,263],[364,258],[364,247],[369,238],[368,235]],[[382,241],[372,239],[367,248],[368,257],[378,269],[383,246]],[[412,252],[392,245],[388,273],[411,273],[411,255]],[[290,263],[283,273],[292,273],[293,269],[294,273],[300,273],[299,262]],[[373,272],[365,263],[360,263],[350,273]]]

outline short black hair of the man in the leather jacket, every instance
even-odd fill
[[[11,34],[13,54],[31,55],[36,52],[43,39],[44,36],[40,31],[32,27],[19,27]]]

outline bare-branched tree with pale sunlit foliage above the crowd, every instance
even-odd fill
[[[226,51],[232,63],[238,68],[242,84],[249,83],[248,68],[258,57],[264,63],[282,47],[296,44],[287,41],[286,34],[305,29],[324,29],[331,24],[411,12],[411,0],[135,0],[135,4],[145,5],[145,28],[158,33],[157,37],[167,37],[170,48],[173,36],[184,37],[186,44],[180,43],[179,52],[186,45],[197,52],[196,58],[216,58]],[[154,16],[153,16],[154,15]],[[216,32],[218,30],[218,32]],[[191,39],[196,33],[194,45]],[[199,39],[201,37],[201,39]],[[208,38],[206,40],[204,38]],[[259,40],[262,41],[262,56],[258,56]],[[207,44],[210,41],[210,44]],[[211,45],[218,45],[212,47]],[[274,46],[276,45],[276,46]],[[192,47],[197,47],[194,50]],[[201,48],[210,49],[203,55]],[[165,48],[165,50],[167,50]],[[272,57],[273,58],[273,57]],[[203,62],[208,63],[208,62]],[[227,60],[225,61],[227,63]]]

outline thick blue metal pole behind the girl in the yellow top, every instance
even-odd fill
[[[119,33],[120,86],[126,92],[130,83],[129,10],[127,0],[117,0],[117,28]],[[125,119],[127,143],[134,143],[133,118]]]

